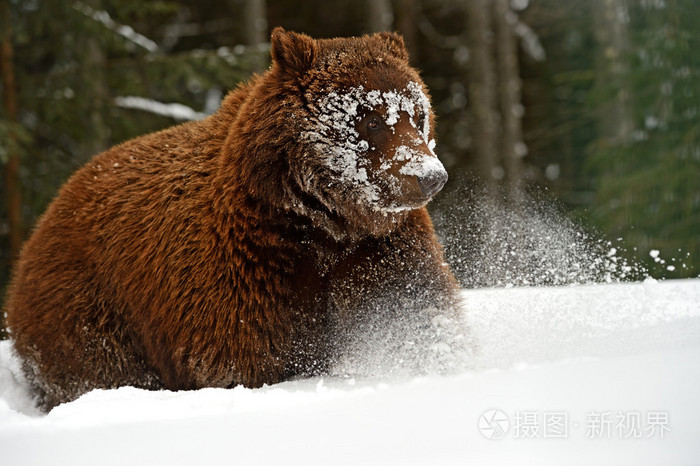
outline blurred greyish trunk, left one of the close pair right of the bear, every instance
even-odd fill
[[[492,0],[466,2],[469,28],[469,100],[472,111],[473,154],[480,178],[493,192],[502,175],[496,163],[498,114],[493,63]],[[500,169],[500,170],[499,170]]]

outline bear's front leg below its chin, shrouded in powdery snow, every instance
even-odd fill
[[[459,365],[466,331],[458,286],[425,209],[358,243],[334,271],[334,371],[424,374]]]

